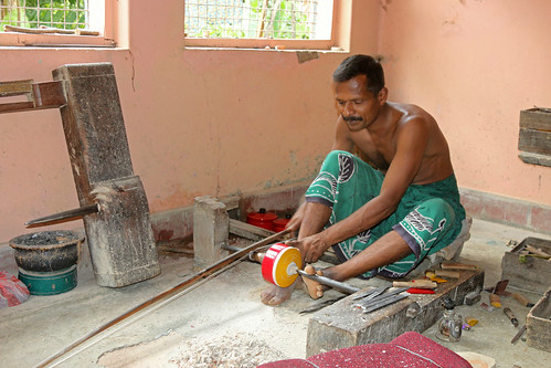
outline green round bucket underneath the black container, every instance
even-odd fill
[[[76,287],[76,264],[54,272],[32,272],[19,269],[19,280],[31,295],[56,295]]]

